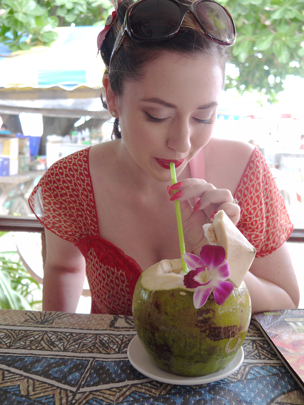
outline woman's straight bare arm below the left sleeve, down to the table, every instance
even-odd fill
[[[73,242],[45,229],[47,257],[43,277],[43,311],[75,312],[83,290],[86,263]]]

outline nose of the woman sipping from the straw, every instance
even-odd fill
[[[191,131],[189,122],[177,120],[168,132],[167,145],[180,153],[187,153],[191,148]]]

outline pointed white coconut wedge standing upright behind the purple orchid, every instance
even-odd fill
[[[223,210],[216,213],[212,224],[203,225],[203,230],[210,245],[225,249],[230,273],[228,280],[239,288],[255,258],[256,249]]]

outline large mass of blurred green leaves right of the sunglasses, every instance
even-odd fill
[[[227,88],[240,94],[257,89],[275,102],[287,75],[304,77],[303,0],[218,0],[227,7],[237,32],[233,63],[236,78]]]

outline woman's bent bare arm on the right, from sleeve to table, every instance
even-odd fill
[[[286,242],[263,258],[255,258],[244,281],[252,312],[298,308],[300,293]]]

